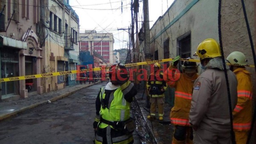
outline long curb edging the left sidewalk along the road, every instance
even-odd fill
[[[99,83],[99,82],[94,83],[94,84],[98,84],[98,83]],[[59,95],[59,96],[57,96],[57,97],[55,97],[55,98],[51,98],[51,99],[49,99],[49,101],[53,102],[53,101],[56,101],[56,100],[58,100],[58,99],[67,97],[67,96],[72,95],[72,94],[74,94],[75,92],[77,92],[77,91],[79,91],[79,90],[81,90],[81,89],[90,87],[90,86],[92,86],[92,85],[94,85],[94,84],[90,84],[90,85],[88,85],[88,86],[84,86],[84,87],[82,87],[82,88],[76,89],[76,90],[74,90],[74,91],[72,91],[72,92],[68,92],[67,94]],[[39,106],[39,105],[41,105],[41,104],[45,104],[45,103],[48,103],[48,100],[45,100],[45,101],[42,101],[42,102],[39,102],[39,103],[36,103],[36,104],[32,104],[32,105],[27,106],[27,107],[22,107],[22,108],[20,108],[20,109],[17,109],[17,110],[15,110],[15,111],[10,112],[10,113],[7,113],[7,114],[2,114],[2,115],[0,115],[0,121],[2,121],[3,119],[9,118],[9,117],[11,117],[11,116],[13,116],[13,115],[16,115],[16,114],[18,114],[18,113],[20,113],[20,112],[26,111],[26,110],[28,110],[28,109],[31,109],[31,108],[33,108],[33,107],[37,107],[37,106]]]

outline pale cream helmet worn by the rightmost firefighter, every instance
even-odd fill
[[[239,64],[239,65],[246,65],[247,59],[245,58],[245,55],[242,52],[231,52],[227,56],[227,61],[231,64]]]

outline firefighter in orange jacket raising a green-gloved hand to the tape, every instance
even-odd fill
[[[194,81],[198,78],[198,65],[196,62],[184,61],[183,73],[180,73],[177,70],[179,60],[180,56],[177,56],[164,73],[166,83],[175,88],[174,107],[170,113],[171,123],[175,125],[172,144],[192,144],[193,130],[189,124],[189,110]]]

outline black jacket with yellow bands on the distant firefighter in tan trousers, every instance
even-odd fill
[[[151,98],[161,98],[164,97],[164,91],[166,90],[166,82],[163,80],[163,73],[157,72],[156,74],[152,72],[148,77],[147,89],[150,89],[149,95]]]

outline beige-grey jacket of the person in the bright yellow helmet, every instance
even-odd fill
[[[215,66],[207,68],[197,78],[189,112],[191,125],[214,133],[230,132],[227,84],[224,70],[220,69],[223,67],[221,64],[220,58]],[[237,80],[236,75],[229,69],[227,70],[227,76],[233,110],[237,103]]]

